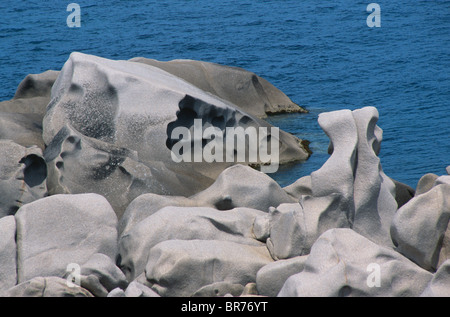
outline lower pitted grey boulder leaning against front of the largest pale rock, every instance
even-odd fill
[[[84,136],[68,125],[53,138],[44,157],[50,195],[102,195],[119,219],[142,194],[192,195],[213,182],[189,170],[169,170],[162,161],[143,163],[136,151]]]

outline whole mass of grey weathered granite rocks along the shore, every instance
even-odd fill
[[[284,188],[170,158],[168,127],[292,111],[261,77],[198,61],[73,53],[27,76],[0,103],[0,295],[450,296],[450,166],[416,189],[389,178],[374,107],[320,114],[330,157]],[[311,154],[276,141],[280,164]]]

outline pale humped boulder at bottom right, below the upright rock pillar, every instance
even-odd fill
[[[304,269],[289,277],[280,297],[416,297],[433,275],[391,248],[351,229],[331,229],[311,248]]]

